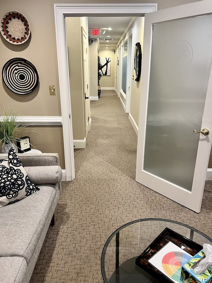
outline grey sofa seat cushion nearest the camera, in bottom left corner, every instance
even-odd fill
[[[0,282],[21,283],[27,271],[27,263],[20,257],[0,258]]]

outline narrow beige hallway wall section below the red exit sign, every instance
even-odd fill
[[[93,97],[98,97],[98,44],[97,40],[94,43],[89,43],[89,94]]]

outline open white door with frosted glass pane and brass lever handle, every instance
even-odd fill
[[[205,0],[144,24],[136,181],[196,212],[211,149],[211,13]]]

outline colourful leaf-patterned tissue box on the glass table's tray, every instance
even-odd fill
[[[181,269],[181,281],[184,283],[211,283],[212,282],[212,265],[203,272],[203,274],[198,274],[192,269],[192,266],[203,258],[205,255],[204,250],[201,250],[187,263],[182,265]]]

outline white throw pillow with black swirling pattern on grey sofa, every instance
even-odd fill
[[[0,160],[0,207],[12,204],[40,190],[31,183],[14,149]]]

